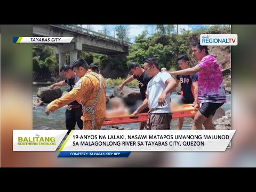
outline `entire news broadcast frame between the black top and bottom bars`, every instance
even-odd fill
[[[226,24],[1,25],[1,167],[255,166],[255,26]]]

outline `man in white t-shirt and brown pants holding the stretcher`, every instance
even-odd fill
[[[170,92],[175,89],[177,83],[169,73],[160,73],[156,58],[147,59],[144,62],[143,67],[146,74],[153,78],[148,83],[146,99],[133,114],[138,114],[142,109],[148,106],[150,111],[147,129],[170,129],[170,123],[172,120]]]

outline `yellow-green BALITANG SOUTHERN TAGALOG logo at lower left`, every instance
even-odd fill
[[[55,137],[40,137],[35,134],[35,137],[18,137],[18,145],[56,145]]]

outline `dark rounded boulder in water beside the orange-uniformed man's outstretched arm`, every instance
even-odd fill
[[[55,99],[58,99],[62,95],[62,90],[59,87],[54,87],[53,90],[50,90],[50,86],[40,87],[37,92],[37,97],[45,103],[50,103]]]

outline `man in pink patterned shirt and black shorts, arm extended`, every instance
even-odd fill
[[[192,55],[199,63],[192,68],[169,72],[171,75],[191,75],[198,72],[198,102],[194,108],[199,109],[194,118],[192,130],[214,130],[212,118],[216,110],[226,102],[225,87],[223,85],[221,68],[218,61],[208,53],[207,46],[196,42],[192,45]]]

